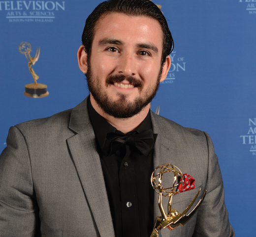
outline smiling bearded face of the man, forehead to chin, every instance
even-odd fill
[[[154,98],[160,81],[162,30],[148,17],[107,14],[95,27],[88,87],[106,113],[128,118]]]

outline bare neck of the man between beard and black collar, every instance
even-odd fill
[[[109,124],[115,127],[117,130],[127,133],[130,131],[135,130],[142,121],[147,117],[150,104],[144,107],[138,114],[130,117],[130,118],[115,118],[107,113],[105,113],[99,105],[96,103],[95,99],[93,98],[92,94],[90,94],[91,104],[96,110],[96,112],[102,116]]]

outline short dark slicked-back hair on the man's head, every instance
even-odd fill
[[[84,50],[90,58],[95,26],[100,17],[108,13],[124,13],[129,16],[146,16],[157,20],[163,31],[162,65],[173,50],[173,39],[167,21],[156,4],[150,0],[107,0],[100,3],[86,20],[82,34]]]

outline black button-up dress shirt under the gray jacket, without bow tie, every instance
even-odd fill
[[[154,170],[153,156],[142,155],[135,147],[124,146],[106,157],[102,146],[108,132],[116,128],[101,117],[88,100],[101,161],[108,201],[116,237],[150,237],[154,227],[154,190],[150,176]],[[152,128],[150,113],[136,129],[138,133]],[[156,134],[154,134],[156,139]],[[130,151],[128,151],[130,150]]]

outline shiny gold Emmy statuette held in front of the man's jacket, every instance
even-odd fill
[[[170,187],[164,188],[162,186],[162,181],[163,181],[163,175],[165,173],[169,173],[169,175],[173,175],[173,184]],[[167,175],[167,174],[166,174]],[[169,230],[173,230],[175,227],[179,225],[185,225],[194,215],[194,213],[197,211],[198,207],[202,203],[206,190],[202,196],[202,198],[199,200],[199,202],[196,204],[194,209],[186,215],[187,211],[192,207],[195,199],[197,198],[201,188],[195,195],[194,199],[190,203],[190,205],[183,211],[182,213],[179,213],[175,209],[172,208],[172,199],[175,194],[178,194],[180,190],[177,190],[177,187],[182,184],[184,185],[184,176],[181,173],[180,169],[177,168],[176,166],[172,164],[162,164],[158,166],[152,173],[151,175],[151,185],[154,188],[154,190],[159,194],[159,199],[158,199],[158,205],[160,209],[161,216],[158,216],[156,218],[156,222],[154,225],[153,232],[150,237],[161,237],[160,230],[164,228],[168,228]],[[168,202],[168,212],[164,211],[162,207],[162,197],[169,197],[169,202]]]

